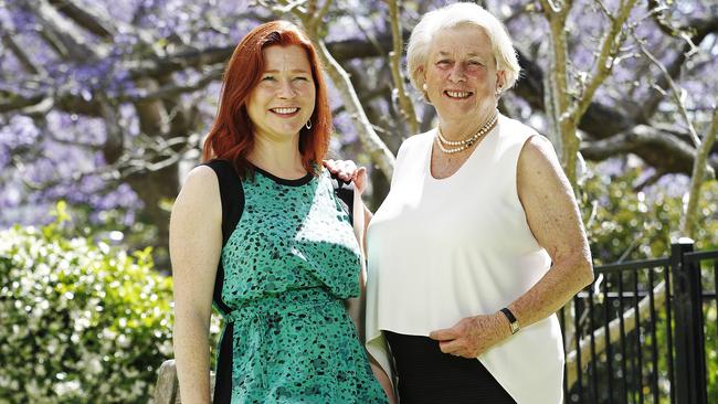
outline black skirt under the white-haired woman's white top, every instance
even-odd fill
[[[429,337],[384,331],[401,404],[516,404],[476,359],[453,357]]]

